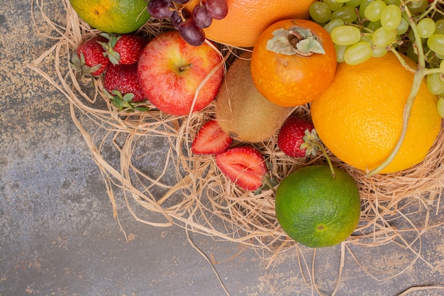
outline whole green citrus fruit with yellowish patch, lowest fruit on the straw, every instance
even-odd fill
[[[298,243],[334,246],[350,236],[360,219],[359,190],[353,177],[328,165],[300,168],[277,187],[276,218]]]

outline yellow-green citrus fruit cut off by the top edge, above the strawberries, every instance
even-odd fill
[[[70,0],[72,8],[92,28],[125,34],[150,18],[145,0]]]

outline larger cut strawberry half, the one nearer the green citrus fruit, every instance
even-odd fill
[[[216,155],[216,165],[244,190],[257,190],[267,173],[267,165],[259,150],[250,146],[231,148]]]

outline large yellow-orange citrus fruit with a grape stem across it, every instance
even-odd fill
[[[401,57],[416,69],[413,60]],[[359,65],[339,63],[333,82],[311,103],[319,138],[343,162],[373,170],[387,159],[399,139],[413,81],[414,73],[393,53]],[[424,80],[399,153],[380,172],[405,170],[426,157],[441,128],[437,102]]]

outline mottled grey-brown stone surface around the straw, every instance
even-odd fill
[[[44,3],[62,24],[60,1]],[[1,296],[332,295],[340,246],[316,251],[308,273],[311,250],[279,254],[267,268],[260,253],[238,243],[135,221],[123,202],[119,226],[66,97],[26,67],[55,43],[36,23],[30,1],[0,6]],[[444,221],[439,202],[433,221]],[[429,288],[408,295],[444,295],[434,288],[444,285],[443,232],[429,229],[411,250],[349,246],[335,295],[394,296],[416,286]]]

